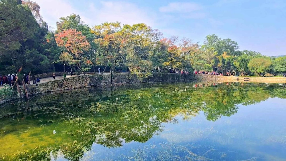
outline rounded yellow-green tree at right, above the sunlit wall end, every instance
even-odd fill
[[[269,57],[255,57],[249,61],[247,66],[251,72],[264,75],[270,65],[271,60]]]

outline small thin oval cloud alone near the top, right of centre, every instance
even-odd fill
[[[201,10],[203,7],[197,3],[190,2],[174,2],[169,3],[167,6],[159,8],[160,12],[171,12],[171,13],[188,13],[192,11]]]

